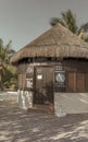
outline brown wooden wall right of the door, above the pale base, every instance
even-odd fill
[[[55,70],[58,69],[64,81],[54,80],[55,92],[88,92],[88,61],[64,60],[59,66],[62,68],[58,69],[56,66]]]

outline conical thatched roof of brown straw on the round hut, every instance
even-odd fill
[[[88,44],[58,24],[17,51],[11,62],[27,57],[88,58]]]

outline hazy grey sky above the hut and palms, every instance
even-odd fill
[[[0,0],[0,38],[20,50],[48,31],[51,17],[61,17],[68,9],[77,25],[88,22],[88,0]]]

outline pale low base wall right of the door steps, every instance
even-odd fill
[[[56,116],[88,113],[88,93],[54,93],[54,113]]]

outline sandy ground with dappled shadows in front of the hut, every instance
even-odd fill
[[[58,118],[0,100],[0,142],[88,142],[88,114]]]

